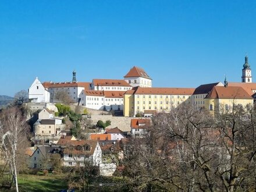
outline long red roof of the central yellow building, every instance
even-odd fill
[[[163,87],[137,87],[133,92],[134,95],[149,94],[149,95],[192,95],[194,88],[163,88]],[[131,94],[132,91],[126,91],[125,94]]]

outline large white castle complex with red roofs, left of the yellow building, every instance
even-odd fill
[[[59,102],[56,95],[63,93],[78,105],[91,109],[123,110],[123,94],[133,87],[151,87],[152,79],[140,67],[134,66],[123,80],[93,79],[92,82],[78,82],[76,72],[72,81],[44,82],[36,77],[29,88],[31,102]]]

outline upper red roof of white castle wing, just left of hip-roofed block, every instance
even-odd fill
[[[129,83],[122,79],[93,79],[94,86],[117,86],[131,87]]]

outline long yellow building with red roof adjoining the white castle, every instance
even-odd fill
[[[134,87],[124,95],[124,116],[137,113],[169,112],[171,108],[186,102],[191,104],[194,88]]]

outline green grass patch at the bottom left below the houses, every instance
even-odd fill
[[[19,191],[61,191],[67,189],[63,176],[19,175]],[[0,189],[1,191],[1,189]],[[16,191],[6,190],[5,191]]]

